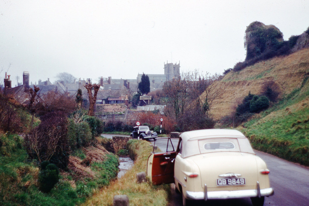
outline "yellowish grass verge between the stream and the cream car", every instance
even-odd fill
[[[134,160],[133,167],[121,178],[115,180],[110,186],[96,192],[83,205],[112,205],[114,195],[128,195],[129,204],[136,206],[167,205],[170,191],[169,185],[154,186],[145,182],[138,184],[136,174],[146,171],[148,156],[152,146],[147,141],[130,140],[127,144],[130,157]]]

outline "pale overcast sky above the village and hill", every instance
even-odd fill
[[[273,24],[284,39],[309,26],[308,0],[0,0],[0,83],[5,72],[34,84],[60,72],[77,78],[136,79],[180,72],[222,74],[245,59],[253,21]]]

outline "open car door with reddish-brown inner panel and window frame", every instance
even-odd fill
[[[166,151],[155,151],[155,143],[157,141],[164,141],[167,143]],[[151,179],[153,184],[160,185],[174,182],[175,157],[176,151],[171,142],[171,138],[155,139],[153,151],[147,160],[147,176]]]

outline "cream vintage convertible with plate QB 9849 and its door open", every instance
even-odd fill
[[[147,163],[152,182],[174,182],[184,206],[197,199],[245,197],[261,206],[274,193],[268,174],[248,138],[234,129],[184,132],[176,151],[153,152]]]

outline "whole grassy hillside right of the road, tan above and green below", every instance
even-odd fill
[[[216,82],[225,94],[211,112],[217,120],[230,115],[249,91],[260,94],[268,80],[280,85],[280,100],[237,129],[256,149],[309,165],[309,49],[228,73]]]

